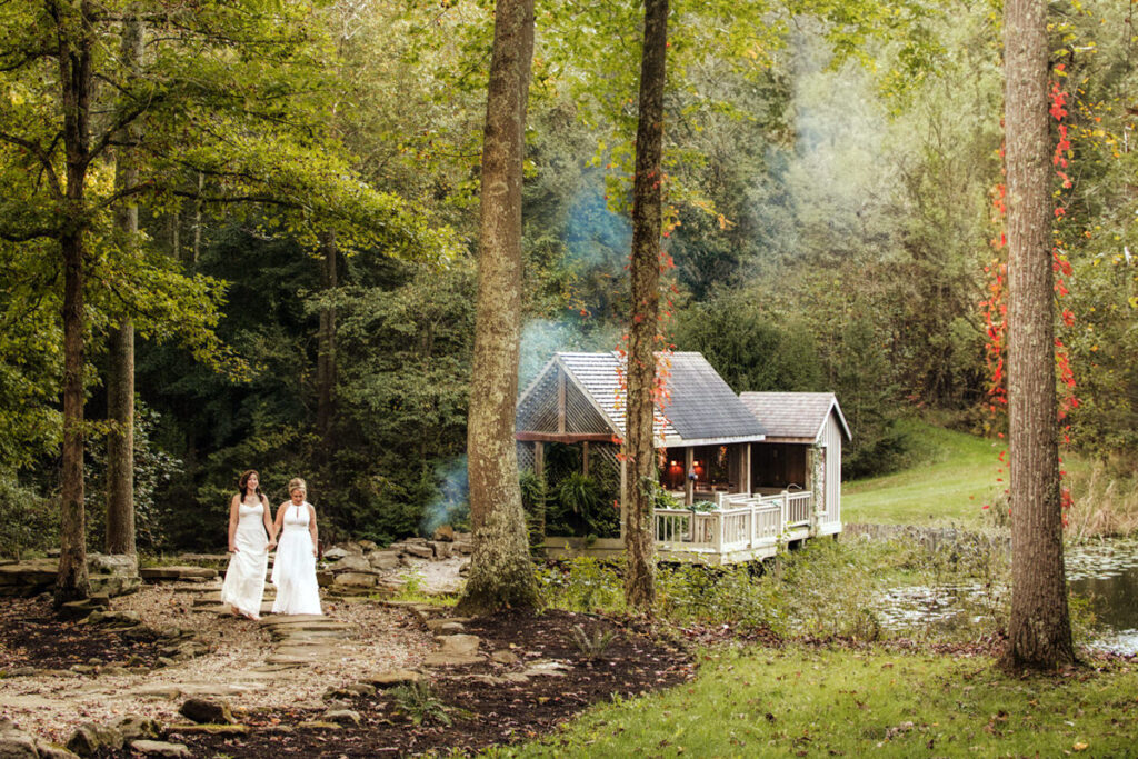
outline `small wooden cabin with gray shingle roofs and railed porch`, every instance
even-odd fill
[[[658,555],[748,561],[773,554],[780,543],[840,531],[841,440],[849,429],[833,394],[740,397],[701,354],[669,358],[670,399],[654,431],[661,485],[676,506],[655,510]],[[612,495],[622,531],[628,478],[617,455],[625,435],[621,374],[616,353],[554,354],[518,401],[516,437],[520,467],[538,477],[549,475],[549,454],[566,446],[579,446],[572,461],[586,475],[619,472],[611,479],[619,482]],[[563,473],[564,456],[558,460]],[[545,546],[550,555],[624,550],[622,534],[589,542],[546,536]]]

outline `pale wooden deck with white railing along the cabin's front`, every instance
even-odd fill
[[[655,555],[660,561],[734,564],[775,555],[780,546],[811,537],[841,533],[840,514],[815,509],[809,490],[777,495],[719,495],[716,511],[655,510]],[[553,559],[571,556],[617,558],[624,553],[619,538],[546,537],[545,553]]]

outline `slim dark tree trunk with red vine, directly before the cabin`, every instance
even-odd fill
[[[651,613],[655,601],[652,509],[658,482],[652,418],[655,409],[655,348],[660,313],[661,155],[663,84],[668,40],[668,0],[645,0],[644,51],[641,59],[640,114],[636,125],[636,176],[633,184],[632,327],[628,331],[628,419],[625,451],[632,487],[625,520],[628,559],[625,597]]]

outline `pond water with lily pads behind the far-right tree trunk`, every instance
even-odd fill
[[[1092,647],[1138,654],[1138,539],[1070,546],[1067,581],[1090,599],[1096,617]],[[890,629],[922,622],[948,622],[958,614],[972,621],[995,614],[1007,588],[993,585],[917,585],[892,588],[879,597],[877,611]]]

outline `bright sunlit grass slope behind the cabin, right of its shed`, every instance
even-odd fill
[[[906,422],[917,463],[904,471],[842,484],[842,521],[885,525],[991,523],[982,509],[1001,493],[1003,440],[954,432],[923,422]]]

